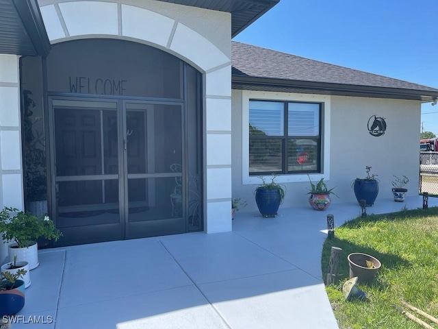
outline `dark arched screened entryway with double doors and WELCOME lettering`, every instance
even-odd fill
[[[86,39],[23,58],[22,76],[60,245],[203,230],[201,73],[153,47]]]

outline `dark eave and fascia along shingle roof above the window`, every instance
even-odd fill
[[[240,77],[233,75],[231,78],[233,89],[287,91],[302,93],[338,95],[352,97],[410,99],[427,103],[438,98],[438,90],[415,90],[404,88],[389,88],[377,86],[359,86],[352,84],[332,84],[326,82],[309,82],[298,80],[281,80],[262,77]],[[293,90],[293,91],[292,91]]]

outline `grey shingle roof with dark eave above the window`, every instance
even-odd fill
[[[438,89],[309,60],[240,42],[232,42],[233,88],[421,99],[438,97]],[[250,84],[253,84],[251,87]],[[266,88],[263,89],[263,84]],[[292,88],[293,90],[290,90]],[[299,90],[302,88],[302,90]],[[392,96],[391,96],[392,95]]]

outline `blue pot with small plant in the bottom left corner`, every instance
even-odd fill
[[[26,271],[0,272],[0,319],[15,315],[25,306],[25,282],[19,280]]]

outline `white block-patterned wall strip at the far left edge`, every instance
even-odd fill
[[[0,207],[23,210],[18,59],[0,54]],[[0,243],[0,264],[7,256],[7,246]]]

